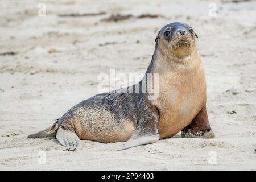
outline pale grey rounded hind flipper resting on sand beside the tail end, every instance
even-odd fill
[[[67,131],[64,127],[58,129],[56,138],[61,145],[67,147],[67,150],[76,150],[81,142],[75,131]]]

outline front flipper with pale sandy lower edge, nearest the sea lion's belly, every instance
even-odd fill
[[[137,123],[131,138],[118,150],[125,150],[145,144],[158,142],[160,139],[158,131],[159,114],[155,107],[145,109],[143,117]]]

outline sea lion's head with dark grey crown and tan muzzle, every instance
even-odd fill
[[[156,36],[160,51],[166,56],[187,57],[195,48],[197,38],[188,24],[175,22],[164,26]]]

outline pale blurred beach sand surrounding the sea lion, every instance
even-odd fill
[[[2,0],[0,15],[1,170],[256,169],[255,1]],[[26,139],[96,94],[100,73],[144,73],[158,30],[176,21],[199,35],[216,138],[179,133],[124,151],[84,140],[75,152],[56,139]]]

